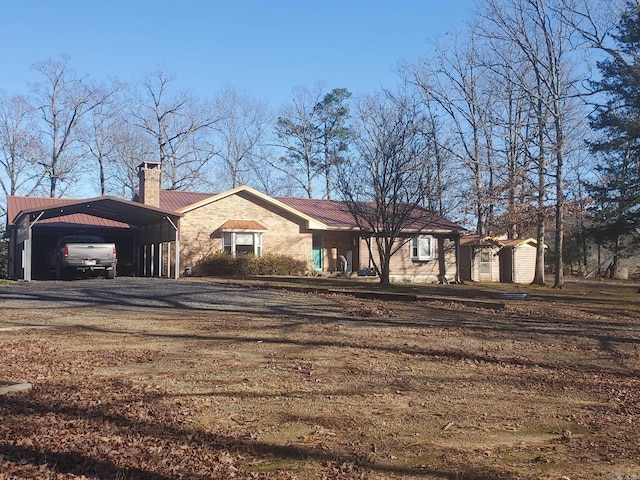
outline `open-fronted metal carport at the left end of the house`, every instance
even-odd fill
[[[32,280],[37,253],[34,241],[40,239],[42,243],[45,238],[57,239],[61,234],[78,232],[120,239],[124,250],[130,250],[129,273],[176,279],[180,276],[179,213],[115,197],[87,200],[9,197],[8,200],[14,211],[9,208],[7,225],[12,278]],[[33,206],[36,200],[41,205]]]

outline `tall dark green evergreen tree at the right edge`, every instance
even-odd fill
[[[616,48],[598,63],[602,80],[593,82],[606,102],[591,117],[600,133],[591,151],[603,161],[598,181],[588,185],[595,201],[592,237],[612,249],[612,274],[623,239],[640,227],[640,2],[627,3],[613,39]]]

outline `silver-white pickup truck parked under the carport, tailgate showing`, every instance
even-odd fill
[[[47,264],[58,280],[75,273],[101,273],[116,276],[116,245],[97,235],[66,235],[47,255]]]

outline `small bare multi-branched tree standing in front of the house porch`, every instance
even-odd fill
[[[371,234],[381,284],[389,283],[391,257],[409,240],[402,232],[426,214],[423,127],[420,102],[406,92],[380,92],[356,106],[356,157],[340,168],[338,188],[359,228]]]

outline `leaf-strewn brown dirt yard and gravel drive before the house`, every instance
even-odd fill
[[[637,288],[0,284],[0,478],[640,479]]]

